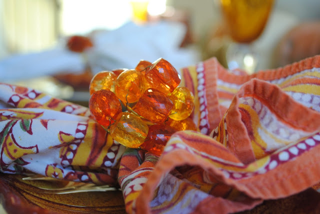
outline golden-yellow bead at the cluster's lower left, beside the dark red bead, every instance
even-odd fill
[[[148,133],[148,126],[140,117],[129,112],[122,112],[110,126],[109,133],[122,145],[138,148]]]

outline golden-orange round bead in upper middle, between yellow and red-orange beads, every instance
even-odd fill
[[[135,69],[124,70],[114,83],[115,95],[123,103],[136,102],[145,90],[145,78]]]

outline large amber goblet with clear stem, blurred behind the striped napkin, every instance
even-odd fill
[[[221,11],[229,34],[234,41],[226,50],[229,69],[255,71],[259,54],[252,41],[262,33],[272,10],[274,0],[220,0]]]

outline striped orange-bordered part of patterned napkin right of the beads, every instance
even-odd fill
[[[230,213],[319,187],[320,56],[252,75],[210,58],[181,73],[199,131],[176,132],[158,159],[124,152],[127,212]]]

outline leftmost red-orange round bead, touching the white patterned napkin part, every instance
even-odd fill
[[[89,110],[92,117],[103,126],[112,124],[122,111],[120,101],[115,94],[104,89],[92,93],[89,99]]]

